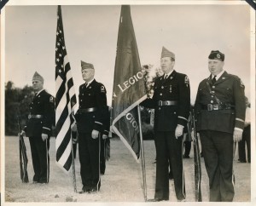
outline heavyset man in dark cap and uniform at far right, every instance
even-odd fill
[[[224,72],[224,54],[212,51],[211,72],[199,84],[195,100],[196,129],[200,132],[211,202],[231,202],[234,197],[234,142],[241,140],[245,119],[244,85]]]

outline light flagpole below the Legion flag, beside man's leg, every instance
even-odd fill
[[[142,158],[142,169],[143,169],[143,189],[144,189],[144,200],[147,202],[147,182],[146,182],[146,169],[145,169],[145,157],[144,157],[144,146],[143,146],[143,131],[142,131],[142,118],[140,106],[137,106],[138,124],[140,129],[140,142],[141,142],[141,158]]]

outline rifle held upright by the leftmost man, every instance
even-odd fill
[[[18,116],[18,126],[19,126],[19,132],[21,133],[20,128],[20,117]],[[20,178],[22,182],[27,183],[28,182],[28,175],[26,171],[27,167],[27,156],[26,156],[26,146],[23,139],[23,136],[19,133],[19,146],[20,146]]]

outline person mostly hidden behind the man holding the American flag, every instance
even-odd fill
[[[104,122],[103,122],[103,133],[102,133],[102,140],[101,140],[101,174],[105,174],[106,170],[106,156],[107,156],[107,151],[106,147],[109,141],[108,134],[109,134],[109,128],[110,128],[110,111],[107,107],[105,110],[104,114]]]

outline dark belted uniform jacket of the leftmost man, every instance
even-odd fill
[[[41,136],[51,134],[52,125],[55,123],[55,101],[54,97],[45,90],[35,95],[29,104],[29,115],[24,131],[26,136]],[[42,115],[40,118],[31,115]]]

